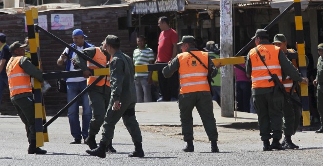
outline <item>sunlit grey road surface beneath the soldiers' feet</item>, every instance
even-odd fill
[[[176,105],[176,107],[175,107]],[[163,135],[159,132],[142,131],[144,158],[129,158],[128,153],[134,145],[125,126],[120,121],[115,127],[113,145],[115,154],[108,154],[105,159],[88,155],[85,144],[70,145],[72,137],[69,132],[67,117],[60,117],[48,126],[49,143],[42,147],[45,155],[27,154],[27,138],[24,125],[18,116],[0,116],[0,165],[1,166],[232,166],[232,165],[311,165],[322,166],[323,134],[313,131],[297,132],[293,136],[297,150],[262,151],[259,131],[253,129],[232,128],[234,125],[254,124],[256,115],[238,113],[235,118],[221,118],[220,109],[214,106],[215,118],[219,131],[219,153],[210,152],[210,143],[195,139],[195,152],[182,152],[184,142],[181,136]],[[143,109],[145,108],[145,109]],[[176,102],[161,104],[138,104],[136,115],[139,125],[157,125],[160,127],[178,126],[179,110]],[[194,125],[201,125],[197,111],[193,111]],[[47,117],[50,119],[51,117]],[[231,124],[231,125],[230,125]],[[142,126],[143,127],[143,126]],[[197,126],[199,127],[199,126]],[[231,127],[231,128],[227,128]],[[201,127],[200,127],[201,128]],[[194,127],[194,136],[207,140],[206,133]],[[100,134],[96,142],[99,142]],[[83,143],[83,141],[82,141]]]

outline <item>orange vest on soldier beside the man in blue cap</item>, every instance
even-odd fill
[[[95,62],[98,62],[99,64],[101,64],[103,67],[107,66],[107,57],[101,52],[99,47],[95,47],[95,55],[92,58]],[[109,62],[111,61],[112,57],[110,58]],[[96,65],[94,65],[93,63],[91,63],[90,61],[88,61],[87,66],[90,69],[98,69],[99,67],[97,67]],[[94,80],[96,80],[99,76],[90,76],[87,80],[88,85],[93,83]],[[110,86],[109,80],[110,80],[110,75],[107,75],[107,80],[102,79],[100,80],[98,83],[96,83],[95,85],[97,86],[102,86],[104,85],[104,83],[108,86]]]

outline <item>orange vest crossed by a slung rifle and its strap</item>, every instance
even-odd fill
[[[269,71],[272,74],[276,74],[281,81],[281,67],[278,60],[278,54],[280,48],[275,45],[261,44],[257,46],[258,51],[266,63]],[[272,87],[275,86],[274,81],[268,82],[272,77],[268,73],[267,67],[259,59],[255,48],[250,50],[250,60],[252,65],[252,87],[253,88],[262,88],[262,87]]]

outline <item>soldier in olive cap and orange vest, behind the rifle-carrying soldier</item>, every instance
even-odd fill
[[[293,49],[287,49],[287,40],[285,35],[283,34],[277,34],[274,37],[273,42],[277,47],[279,47],[284,53],[292,53],[296,52]],[[296,59],[293,59],[291,61],[296,69],[299,68],[298,62]],[[308,63],[307,57],[306,62]],[[306,64],[307,64],[306,63]],[[297,82],[294,82],[292,79],[290,79],[289,76],[286,77],[285,80],[283,80],[281,83],[285,86],[286,92],[289,93],[296,101],[300,102],[300,97],[298,96],[298,93],[296,90],[291,91],[294,84]],[[297,83],[298,84],[298,83]],[[294,85],[298,86],[298,85]],[[293,88],[294,89],[294,88]],[[281,142],[281,145],[284,146],[286,149],[298,149],[300,148],[298,145],[295,145],[291,139],[292,135],[294,135],[300,125],[300,112],[301,107],[298,104],[295,104],[292,102],[293,107],[291,107],[290,104],[287,103],[285,100],[284,102],[284,119],[283,119],[283,131],[284,131],[284,139]]]

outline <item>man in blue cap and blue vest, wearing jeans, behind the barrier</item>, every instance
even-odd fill
[[[77,50],[93,47],[94,45],[84,41],[84,37],[87,38],[87,36],[83,34],[83,31],[81,29],[75,29],[72,33],[72,39],[74,43],[72,43],[71,46],[76,48]],[[67,53],[69,55],[69,59],[64,55],[64,53]],[[66,62],[65,71],[80,70],[77,66],[74,66],[76,64],[74,57],[75,52],[69,50],[69,48],[65,48],[64,52],[57,60],[57,64],[63,65]],[[86,88],[87,79],[84,77],[68,78],[66,79],[66,83],[67,100],[69,103]],[[85,140],[89,136],[89,124],[90,120],[92,119],[92,112],[90,108],[88,93],[85,93],[82,96],[82,107],[82,129],[79,120],[79,102],[75,102],[69,107],[68,117],[70,133],[74,137],[74,140],[70,142],[70,144],[81,144],[82,138]]]

